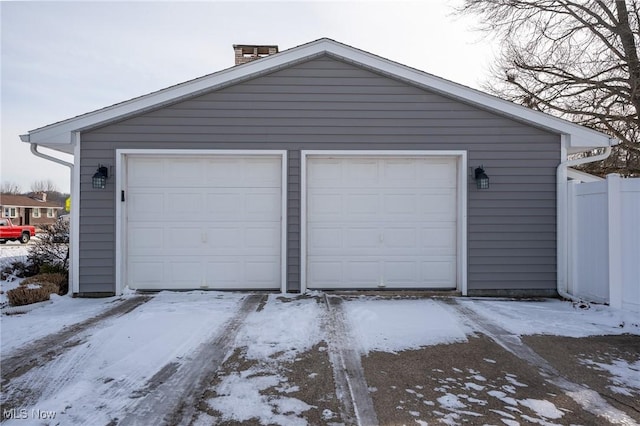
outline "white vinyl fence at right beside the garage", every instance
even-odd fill
[[[640,313],[640,179],[569,183],[569,293]]]

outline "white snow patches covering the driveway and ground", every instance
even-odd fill
[[[24,255],[21,249],[2,247],[0,261]],[[15,281],[0,282],[3,291],[13,285]],[[3,408],[16,410],[6,424],[26,424],[16,418],[22,413],[19,410],[26,410],[28,415],[32,410],[53,412],[60,424],[107,424],[121,419],[136,409],[141,395],[152,392],[154,380],[162,379],[159,375],[170,375],[187,365],[190,356],[223,329],[246,297],[246,293],[161,292],[125,315],[98,322],[64,353],[12,378],[9,386],[3,387]],[[54,297],[52,303],[26,314],[3,315],[1,356],[12,357],[24,345],[105,312],[121,300]],[[458,298],[447,302],[361,296],[344,300],[349,341],[365,357],[376,352],[402,356],[407,350],[464,344],[479,330],[452,303],[471,309],[514,336],[640,334],[638,318],[603,305],[585,308],[551,299],[524,302]],[[298,389],[280,368],[282,363],[293,362],[329,341],[327,320],[321,293],[302,298],[269,295],[233,336],[233,347],[243,348],[250,366],[220,377],[210,389],[212,396],[204,401],[206,412],[198,415],[195,424],[211,424],[216,419],[257,419],[261,424],[304,425],[305,412],[312,408],[322,411],[327,424],[340,424],[339,414],[324,407],[322,401],[291,396]],[[491,368],[501,361],[485,357],[480,362]],[[585,354],[580,362],[585,368],[606,373],[612,392],[640,400],[640,351],[636,359]],[[444,375],[430,389],[437,397],[427,398],[423,395],[425,385],[415,384],[407,387],[405,400],[415,399],[430,410],[431,419],[436,416],[445,424],[461,424],[465,419],[473,423],[475,417],[482,417],[480,409],[487,404],[499,404],[491,412],[507,425],[521,421],[564,423],[567,409],[551,397],[528,396],[531,384],[526,378],[504,371],[492,379],[479,369],[455,368],[458,371],[451,370],[449,377],[444,371],[432,372]],[[9,372],[3,370],[3,378],[6,374]],[[310,380],[314,374],[309,374]],[[30,392],[23,394],[20,389]],[[269,394],[269,389],[277,390],[277,395]],[[7,406],[12,401],[21,405]],[[398,404],[404,407],[405,402]],[[410,409],[409,413],[416,424],[427,424],[423,411]],[[634,420],[627,423],[634,424]]]

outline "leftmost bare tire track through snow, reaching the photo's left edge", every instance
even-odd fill
[[[74,346],[84,343],[87,336],[84,336],[83,333],[89,328],[93,328],[109,318],[126,315],[150,299],[149,296],[124,299],[121,303],[99,315],[14,349],[2,360],[3,389],[9,385],[11,380],[22,376],[32,368],[40,368]]]

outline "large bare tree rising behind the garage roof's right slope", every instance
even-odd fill
[[[640,175],[639,2],[464,0],[458,12],[501,42],[485,89],[614,136],[600,172]]]

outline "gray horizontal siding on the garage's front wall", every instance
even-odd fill
[[[300,280],[300,150],[467,150],[469,289],[555,288],[559,136],[329,57],[82,135],[81,292],[113,291],[115,149],[287,149],[287,281]],[[471,172],[470,172],[471,173]],[[103,262],[103,263],[100,263]]]

